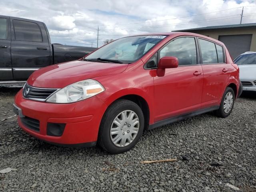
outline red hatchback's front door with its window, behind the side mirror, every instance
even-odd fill
[[[176,38],[159,51],[160,58],[178,58],[179,66],[154,77],[155,122],[200,109],[203,71],[196,47],[196,39],[189,36]]]

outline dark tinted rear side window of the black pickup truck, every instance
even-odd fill
[[[28,21],[13,20],[15,40],[42,42],[38,24]]]

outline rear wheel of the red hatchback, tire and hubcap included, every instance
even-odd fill
[[[226,118],[232,112],[234,107],[235,94],[231,87],[227,87],[221,100],[220,108],[215,111],[219,117]]]

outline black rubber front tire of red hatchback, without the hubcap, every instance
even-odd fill
[[[125,110],[132,110],[136,113],[139,119],[139,130],[134,140],[127,146],[118,147],[110,138],[110,129],[112,122],[118,114]],[[130,100],[120,99],[114,102],[105,112],[102,121],[100,123],[100,129],[98,133],[98,144],[101,148],[108,151],[111,154],[119,154],[126,152],[133,148],[140,139],[144,129],[144,115],[141,108]]]

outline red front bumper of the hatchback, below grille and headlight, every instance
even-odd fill
[[[23,116],[39,121],[39,130],[35,131],[22,123],[22,117],[18,116],[18,123],[25,132],[40,140],[64,146],[95,145],[100,121],[107,108],[96,96],[71,104],[52,104],[27,100],[23,98],[22,90],[14,101]],[[49,136],[48,123],[65,124],[62,135]]]

